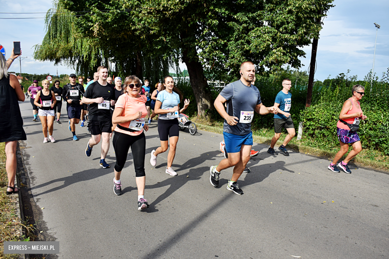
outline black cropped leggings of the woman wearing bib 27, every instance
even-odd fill
[[[135,167],[135,176],[146,176],[146,136],[144,132],[137,136],[131,136],[129,134],[115,131],[112,144],[116,154],[115,171],[121,172],[123,170],[124,164],[127,160],[128,150],[131,147]]]

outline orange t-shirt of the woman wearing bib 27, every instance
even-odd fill
[[[119,96],[118,101],[115,104],[115,109],[116,108],[122,108],[123,112],[121,116],[128,116],[128,115],[134,115],[137,112],[142,112],[142,117],[145,118],[147,116],[147,109],[146,109],[146,101],[147,97],[144,95],[141,95],[138,98],[132,98],[128,96],[127,93]],[[131,122],[126,122],[126,123],[120,123],[119,125],[128,128],[130,126]],[[115,131],[118,131],[120,133],[125,133],[128,135],[132,136],[137,136],[143,132],[143,129],[139,131],[127,131],[123,129],[119,129],[118,127],[115,128]]]

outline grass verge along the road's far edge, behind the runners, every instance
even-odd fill
[[[214,133],[223,133],[223,124],[218,121],[209,121],[203,118],[193,118],[192,120],[197,129],[210,131]],[[286,132],[286,131],[285,131]],[[280,140],[277,141],[277,145],[281,145],[285,138],[283,133]],[[274,136],[274,129],[259,129],[253,130],[253,139],[256,143],[268,144]],[[323,143],[317,143],[314,139],[304,136],[301,140],[297,140],[294,137],[287,147],[292,148],[300,153],[306,153],[319,157],[324,157],[332,160],[335,154],[339,151],[340,147],[322,147]],[[350,147],[349,151],[352,149]],[[370,167],[377,170],[389,171],[389,156],[385,156],[382,153],[370,149],[362,149],[362,151],[352,160],[356,165]]]

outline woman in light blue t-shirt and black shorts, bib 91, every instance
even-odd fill
[[[168,167],[165,172],[171,176],[176,176],[177,173],[173,170],[172,164],[174,157],[176,156],[176,147],[179,138],[179,114],[184,112],[189,106],[189,100],[185,99],[184,108],[180,110],[179,104],[183,99],[182,93],[174,86],[174,80],[171,76],[164,78],[165,90],[158,94],[157,101],[155,103],[155,113],[158,116],[158,133],[160,135],[161,146],[157,150],[151,151],[150,163],[152,166],[157,164],[157,156],[160,153],[166,152],[169,147],[168,153]]]

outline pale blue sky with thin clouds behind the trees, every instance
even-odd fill
[[[374,22],[381,25],[378,30],[375,73],[379,77],[389,67],[389,1],[388,0],[335,0],[320,33],[317,70],[315,79],[323,81],[329,75],[339,73],[358,75],[363,79],[373,67],[373,54],[376,39]],[[46,12],[52,6],[51,0],[0,0],[1,12]],[[1,14],[0,17],[44,17],[41,14]],[[39,44],[45,34],[44,19],[0,19],[2,28],[0,44],[9,56],[13,41],[20,41],[22,48],[22,73],[70,74],[72,68],[54,66],[52,62],[40,62],[32,58],[33,46]],[[303,48],[306,58],[301,58],[301,70],[308,70],[311,46]],[[181,65],[184,69],[185,66]],[[19,71],[19,62],[14,62],[10,71]]]

